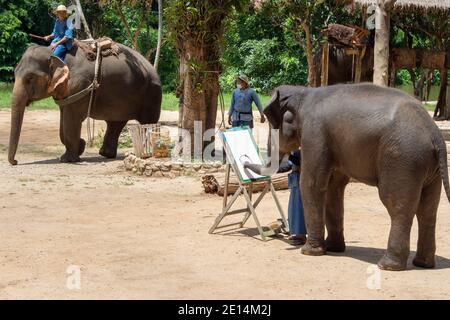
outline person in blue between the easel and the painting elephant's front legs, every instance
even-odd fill
[[[291,190],[288,205],[289,240],[294,244],[306,243],[306,224],[303,210],[302,194],[300,192],[301,153],[300,150],[291,152],[287,164],[280,166],[278,172],[288,172],[288,186]]]

